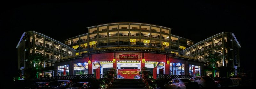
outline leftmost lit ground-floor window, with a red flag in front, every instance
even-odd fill
[[[66,76],[69,75],[69,65],[58,66],[58,75],[57,76]]]

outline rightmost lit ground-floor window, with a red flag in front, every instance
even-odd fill
[[[189,75],[201,76],[201,66],[189,65]]]

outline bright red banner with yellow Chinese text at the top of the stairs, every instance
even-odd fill
[[[140,69],[118,69],[118,79],[140,79]]]

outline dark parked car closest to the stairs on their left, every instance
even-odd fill
[[[74,83],[73,85],[69,86],[69,88],[66,89],[92,89],[91,83],[88,82],[79,82]]]

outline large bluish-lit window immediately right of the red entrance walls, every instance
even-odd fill
[[[170,63],[170,75],[185,75],[185,64]]]

